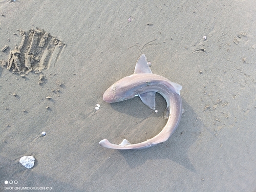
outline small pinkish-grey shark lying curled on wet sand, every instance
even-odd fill
[[[139,96],[148,108],[154,110],[155,94],[157,92],[161,94],[167,102],[165,117],[168,118],[168,121],[158,135],[144,142],[131,144],[126,139],[123,139],[123,141],[117,145],[103,139],[99,144],[103,147],[116,150],[131,150],[151,147],[166,141],[169,136],[174,133],[181,119],[181,89],[182,87],[179,84],[170,82],[160,75],[153,74],[145,55],[142,54],[136,63],[134,74],[115,82],[105,91],[103,100],[112,103]]]

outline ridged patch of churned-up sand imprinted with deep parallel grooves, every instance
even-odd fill
[[[22,41],[10,51],[9,59],[5,62],[7,70],[27,74],[55,67],[65,43],[43,29],[30,29],[27,32],[20,29],[19,32]]]

